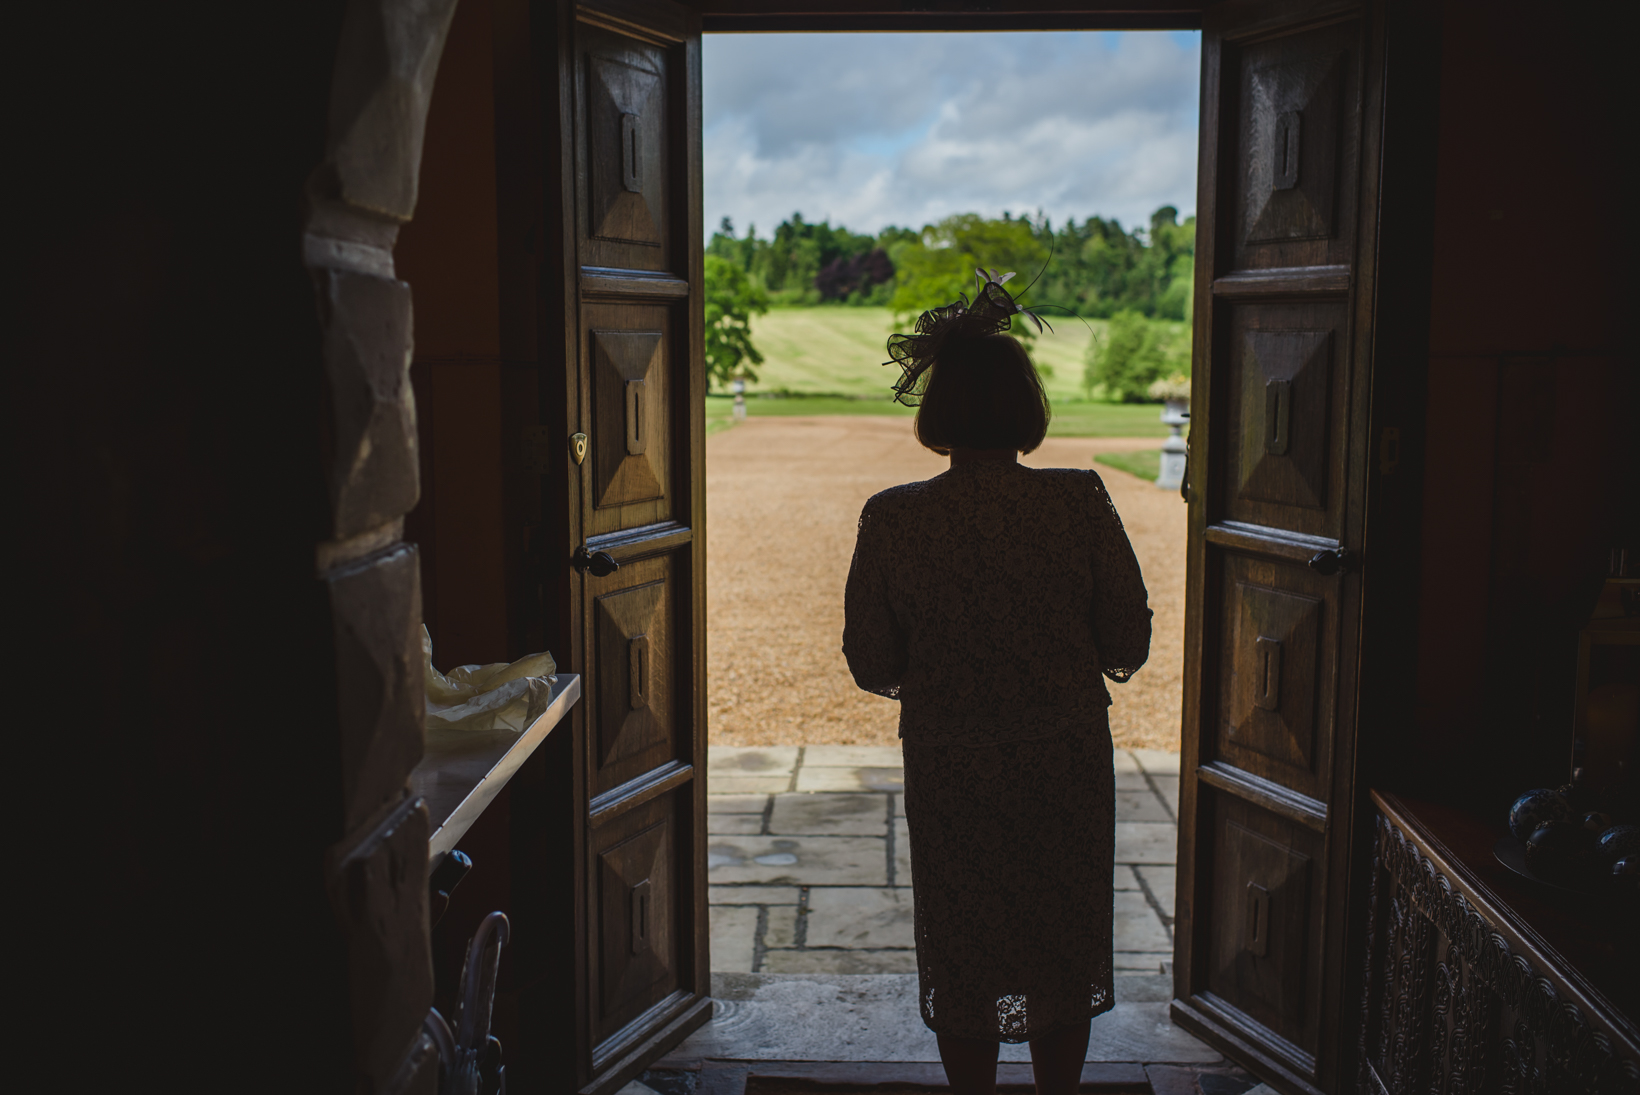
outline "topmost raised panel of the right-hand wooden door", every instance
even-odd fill
[[[1248,69],[1246,243],[1333,234],[1343,72],[1342,52]]]

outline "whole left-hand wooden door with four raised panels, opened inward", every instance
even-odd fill
[[[566,369],[549,443],[585,677],[577,1072],[605,1092],[712,1008],[700,30],[669,0],[561,5],[559,20]]]

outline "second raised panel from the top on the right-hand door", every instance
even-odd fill
[[[1241,497],[1325,505],[1332,331],[1248,331],[1238,372]]]

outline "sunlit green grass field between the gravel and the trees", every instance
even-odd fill
[[[1159,407],[1102,403],[1082,398],[1087,343],[1104,334],[1104,320],[1050,320],[1032,359],[1053,403],[1053,438],[1164,438]],[[887,308],[771,308],[753,316],[751,338],[763,351],[758,380],[746,385],[748,415],[912,415],[889,400],[899,375],[884,366],[884,343],[892,333]],[[786,398],[769,398],[772,395]],[[733,398],[715,392],[707,400],[707,434],[733,425]],[[1155,472],[1151,474],[1155,479]]]

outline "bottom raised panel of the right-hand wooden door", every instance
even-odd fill
[[[1215,795],[1215,906],[1209,988],[1248,1020],[1314,1052],[1312,966],[1319,959],[1320,838]]]

